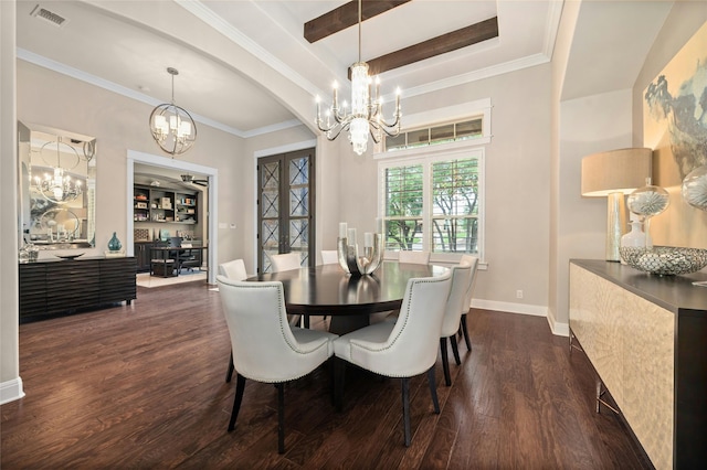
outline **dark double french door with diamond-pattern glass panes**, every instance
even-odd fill
[[[295,252],[314,266],[314,149],[257,159],[257,271],[272,271],[271,255]]]

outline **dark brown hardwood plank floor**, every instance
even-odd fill
[[[235,381],[219,293],[203,281],[138,288],[138,299],[20,327],[27,396],[1,407],[4,469],[355,468],[636,469],[650,467],[621,421],[594,413],[594,375],[545,318],[473,310],[453,385],[411,382],[403,446],[400,384],[347,374],[334,412],[329,368],[286,387],[277,453],[276,391],[249,382],[226,432]]]

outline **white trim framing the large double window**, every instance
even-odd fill
[[[486,269],[487,264],[485,261],[485,243],[486,243],[486,148],[476,145],[477,140],[463,140],[460,142],[453,142],[449,145],[440,145],[440,146],[431,146],[424,148],[409,149],[404,151],[391,152],[394,158],[386,158],[380,159],[378,162],[378,217],[383,220],[386,207],[384,207],[384,199],[383,194],[383,182],[381,181],[382,174],[386,169],[392,167],[400,165],[413,165],[413,164],[422,164],[424,171],[424,178],[422,183],[423,190],[423,205],[422,210],[425,214],[425,217],[431,217],[430,215],[430,194],[431,194],[431,178],[430,171],[432,168],[432,163],[436,161],[446,161],[446,160],[455,160],[474,157],[478,160],[478,167],[481,169],[481,175],[478,179],[478,194],[481,197],[481,202],[478,205],[478,232],[479,232],[479,242],[478,242],[478,253],[479,257],[479,269]],[[422,244],[425,247],[431,246],[431,242],[429,239],[430,234],[426,228],[422,232]],[[386,250],[384,258],[386,259],[395,259],[398,257],[397,252]],[[455,253],[430,253],[430,261],[431,263],[441,263],[441,264],[457,264],[462,258],[461,254]]]

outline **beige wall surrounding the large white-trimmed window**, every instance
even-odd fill
[[[483,98],[490,98],[493,106],[493,139],[485,156],[488,269],[478,273],[475,305],[545,314],[550,250],[550,65],[408,98],[403,126],[404,115]],[[373,229],[378,163],[370,150],[359,157],[346,139],[340,146],[340,218],[359,231]],[[524,291],[524,299],[516,298],[516,290]]]

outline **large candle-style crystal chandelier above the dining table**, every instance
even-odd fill
[[[317,96],[317,117],[315,122],[319,130],[326,132],[327,139],[334,140],[342,130],[349,131],[349,141],[356,153],[363,154],[368,143],[368,135],[376,143],[380,142],[383,132],[395,137],[400,133],[400,88],[395,90],[395,111],[393,122],[382,118],[383,100],[380,97],[380,79],[376,77],[374,93],[372,79],[368,75],[368,64],[361,61],[361,0],[358,1],[358,62],[351,65],[351,113],[347,113],[344,102],[339,108],[338,85],[334,83],[334,103],[327,110],[326,122],[321,119],[321,108]]]

